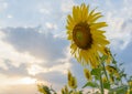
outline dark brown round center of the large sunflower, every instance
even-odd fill
[[[76,24],[73,30],[73,39],[77,46],[80,49],[88,50],[91,48],[92,38],[88,23],[80,22]]]

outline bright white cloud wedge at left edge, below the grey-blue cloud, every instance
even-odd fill
[[[6,36],[2,31],[0,31],[0,65],[4,65],[4,60],[10,60],[14,66],[19,66],[22,62],[43,62],[43,60],[36,59],[29,52],[18,52],[11,44],[2,41],[2,39]]]

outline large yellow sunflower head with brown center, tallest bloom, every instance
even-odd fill
[[[81,64],[89,64],[92,67],[99,65],[99,55],[105,52],[109,41],[103,35],[105,31],[100,30],[107,27],[106,22],[97,22],[101,18],[100,12],[96,9],[89,11],[89,6],[73,7],[73,14],[67,15],[67,39],[72,42],[72,54]]]

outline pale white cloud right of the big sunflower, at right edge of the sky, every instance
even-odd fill
[[[107,36],[111,41],[111,48],[114,46],[116,51],[124,50],[132,40],[132,12],[130,12],[131,4],[123,4],[122,9],[110,9],[106,13],[106,20],[109,24]]]

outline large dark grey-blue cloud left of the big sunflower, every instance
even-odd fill
[[[8,28],[3,30],[6,42],[12,44],[19,52],[29,52],[30,54],[46,60],[56,60],[64,58],[63,53],[67,41],[54,38],[50,32],[40,33],[36,28]]]

